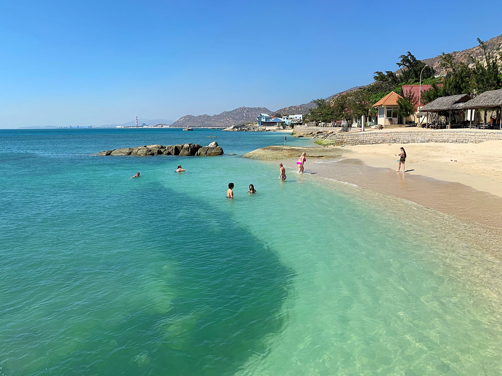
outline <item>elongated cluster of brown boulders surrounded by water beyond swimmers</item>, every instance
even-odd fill
[[[186,143],[178,145],[145,145],[136,147],[122,147],[120,149],[100,151],[96,155],[184,155],[184,156],[212,156],[223,154],[223,149],[217,142],[211,142],[207,146],[198,143]]]

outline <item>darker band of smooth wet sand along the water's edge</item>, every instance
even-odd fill
[[[296,171],[296,159],[283,163]],[[479,243],[491,243],[486,247],[487,251],[489,248],[490,254],[502,257],[502,198],[499,196],[477,191],[457,182],[398,173],[391,168],[367,166],[353,158],[310,160],[305,166],[305,172],[311,173],[304,174],[305,177],[354,184],[365,190],[411,201],[447,216],[453,216],[462,223],[472,226],[465,228],[465,233],[459,234],[461,237]],[[405,211],[402,216],[413,216],[413,213]],[[413,219],[407,218],[407,220],[413,222]]]

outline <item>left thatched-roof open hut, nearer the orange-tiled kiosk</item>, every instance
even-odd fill
[[[451,128],[452,124],[463,127],[467,124],[463,106],[469,99],[471,97],[468,94],[458,94],[439,97],[427,103],[420,109],[420,112],[427,114],[426,127],[428,126],[431,129],[439,129],[443,126]],[[432,116],[429,117],[429,114]],[[445,119],[444,124],[442,117]]]

